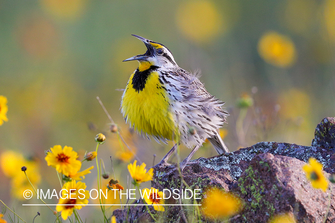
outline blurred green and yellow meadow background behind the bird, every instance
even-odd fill
[[[26,221],[39,211],[35,222],[52,222],[52,213],[21,206],[39,201],[22,200],[24,179],[12,172],[21,176],[20,166],[30,163],[38,188],[59,190],[44,160],[57,144],[82,159],[95,149],[94,136],[106,133],[98,158],[111,172],[112,156],[126,188],[134,157],[122,152],[96,96],[147,166],[171,148],[139,137],[120,114],[118,89],[137,67],[122,60],[146,51],[130,34],[164,44],[181,68],[201,71],[231,114],[221,130],[231,151],[263,140],[310,145],[322,118],[335,116],[335,0],[0,1],[0,95],[9,119],[0,126],[0,198]],[[194,158],[212,155],[206,143]],[[96,168],[84,182],[96,188]],[[102,219],[99,207],[79,213],[88,222]]]

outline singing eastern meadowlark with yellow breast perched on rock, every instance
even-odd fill
[[[164,45],[133,36],[144,42],[147,51],[124,60],[137,60],[139,66],[123,92],[121,111],[126,122],[149,139],[176,142],[157,165],[170,165],[166,161],[178,143],[193,147],[181,169],[206,138],[219,154],[228,152],[218,134],[228,115],[221,107],[224,102],[209,94],[196,76],[181,69]]]

